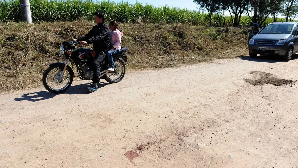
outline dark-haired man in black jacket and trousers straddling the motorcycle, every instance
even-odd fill
[[[80,44],[92,44],[93,43],[93,84],[87,87],[90,92],[97,91],[97,84],[100,81],[100,69],[105,56],[108,53],[110,47],[110,29],[104,22],[104,13],[97,11],[94,13],[94,21],[96,23],[92,29],[83,37],[73,39],[74,41],[81,41]]]

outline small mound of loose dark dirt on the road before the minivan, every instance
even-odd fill
[[[254,86],[256,85],[264,85],[264,84],[272,84],[275,86],[281,86],[286,84],[292,84],[294,81],[287,80],[287,79],[280,79],[273,77],[273,74],[266,73],[266,72],[250,72],[253,75],[253,79],[244,79],[245,82],[248,82]]]

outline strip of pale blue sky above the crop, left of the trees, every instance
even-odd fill
[[[122,2],[122,0],[111,0],[114,2]],[[128,2],[134,4],[136,0],[123,0],[123,2]],[[187,8],[190,10],[197,10],[198,7],[192,0],[139,0],[138,2],[143,2],[143,4],[149,3],[153,6],[174,6],[178,8]],[[199,9],[198,9],[199,10]],[[201,10],[202,11],[202,10]]]

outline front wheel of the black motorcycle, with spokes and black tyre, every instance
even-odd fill
[[[72,70],[66,68],[62,78],[60,78],[63,68],[61,66],[50,66],[45,70],[42,76],[42,84],[46,90],[52,93],[62,93],[71,86],[73,82]]]

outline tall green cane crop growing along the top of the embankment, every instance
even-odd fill
[[[136,2],[115,3],[110,1],[91,0],[31,0],[31,11],[33,22],[55,22],[55,21],[93,21],[93,13],[101,10],[107,15],[107,21],[116,20],[120,23],[134,23],[143,21],[145,23],[167,24],[182,23],[191,25],[207,26],[208,14],[169,6],[154,7],[150,4]],[[21,18],[19,0],[0,0],[0,21],[19,22]],[[212,18],[216,26],[232,25],[230,16],[219,15]],[[284,21],[284,19],[280,19]],[[273,22],[269,18],[265,25]],[[240,25],[250,26],[251,20],[248,16],[241,18]]]

